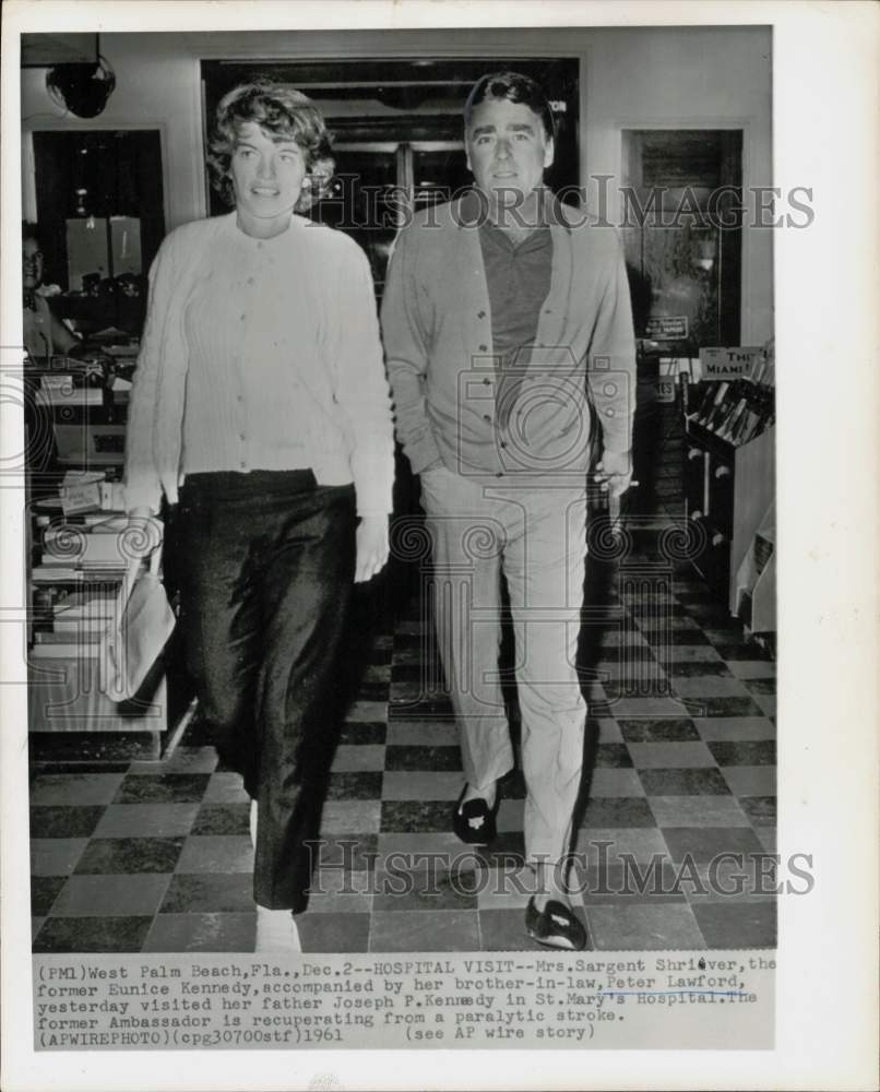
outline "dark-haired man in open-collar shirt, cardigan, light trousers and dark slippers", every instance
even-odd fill
[[[582,949],[564,862],[586,719],[574,661],[590,402],[603,426],[597,477],[619,496],[630,482],[635,389],[630,301],[615,233],[543,185],[554,120],[538,86],[516,73],[486,75],[464,122],[476,186],[402,232],[382,305],[397,434],[421,478],[466,778],[452,826],[465,842],[490,842],[497,782],[514,764],[498,675],[503,572],[536,876],[526,930]]]

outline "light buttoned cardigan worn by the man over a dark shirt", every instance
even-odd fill
[[[479,216],[469,191],[418,213],[395,242],[382,337],[399,439],[415,473],[442,460],[478,480],[582,478],[590,402],[604,448],[631,446],[635,344],[618,236],[545,193],[550,292],[535,345],[519,361],[523,381],[507,384],[515,404],[502,407]],[[509,427],[500,428],[497,416]]]

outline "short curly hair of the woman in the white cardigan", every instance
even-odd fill
[[[211,136],[207,166],[211,182],[223,200],[235,204],[229,163],[242,126],[254,121],[272,140],[293,140],[306,154],[306,182],[297,212],[305,212],[325,193],[333,177],[331,135],[321,111],[289,83],[254,80],[234,87],[219,100]]]

